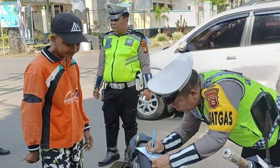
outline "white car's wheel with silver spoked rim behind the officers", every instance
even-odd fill
[[[152,98],[149,101],[142,101],[142,98],[139,97],[137,117],[141,120],[156,120],[164,114],[166,109],[167,107],[161,98],[152,93]]]

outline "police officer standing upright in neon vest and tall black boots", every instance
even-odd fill
[[[109,3],[104,5],[109,12],[113,31],[103,37],[93,91],[93,96],[99,99],[101,96],[99,90],[103,81],[106,82],[101,100],[104,102],[102,110],[106,124],[107,152],[106,157],[98,162],[99,166],[108,165],[120,158],[117,149],[119,117],[123,121],[126,147],[130,139],[137,134],[139,86],[143,83],[142,96],[146,96],[146,100],[150,100],[152,96],[152,93],[146,89],[146,84],[152,77],[147,42],[142,33],[128,28],[127,7],[129,6],[131,5]],[[135,78],[142,78],[142,80],[135,80]],[[127,161],[127,148],[124,161]]]

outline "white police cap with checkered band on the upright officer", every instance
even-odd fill
[[[104,5],[104,9],[109,13],[109,20],[115,20],[122,16],[124,13],[127,12],[127,8],[130,7],[131,4],[112,4],[106,3]]]

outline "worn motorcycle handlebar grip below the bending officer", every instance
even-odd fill
[[[253,167],[253,164],[250,161],[242,158],[240,155],[237,155],[230,148],[227,148],[224,150],[223,157],[224,157],[224,159],[236,164],[237,166],[239,166],[241,168],[252,168]]]

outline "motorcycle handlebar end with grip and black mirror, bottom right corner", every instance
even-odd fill
[[[275,104],[273,97],[267,92],[261,92],[251,109],[253,120],[262,133],[265,141],[266,158],[263,160],[258,155],[249,158],[242,158],[237,155],[231,148],[224,149],[224,159],[236,164],[239,168],[276,168],[270,164],[270,154],[268,148],[268,137],[271,129],[277,119],[279,109]],[[280,167],[277,167],[280,168]]]

